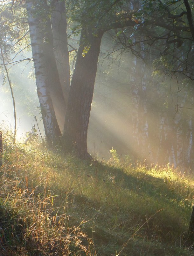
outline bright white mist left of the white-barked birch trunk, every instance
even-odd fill
[[[31,57],[31,52],[25,51],[22,55],[18,54],[14,61],[19,61]],[[12,59],[15,54],[10,56]],[[19,64],[7,65],[11,86],[16,104],[17,117],[17,141],[23,143],[32,132],[32,127],[37,117],[38,126],[41,133],[44,135],[43,123],[39,109],[38,96],[36,92],[36,81],[32,61],[23,61]],[[0,73],[0,124],[3,130],[12,131],[14,127],[13,102],[11,98],[10,87],[7,81],[6,73]],[[38,130],[37,124],[35,129]],[[39,133],[39,132],[38,132]],[[40,134],[39,134],[40,136]]]

